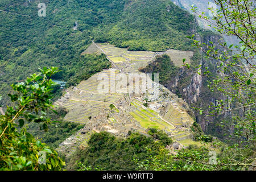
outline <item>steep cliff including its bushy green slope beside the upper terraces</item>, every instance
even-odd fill
[[[194,27],[193,34],[195,34],[196,40],[207,45],[213,44],[213,46],[216,46],[216,49],[223,49],[220,46],[220,43],[224,41],[221,40],[222,36],[210,30],[202,30],[196,20]],[[204,46],[203,49],[207,51],[206,46]],[[186,59],[186,63],[191,64],[191,69],[176,67],[172,63],[172,56],[170,56],[169,60],[166,59],[168,58],[164,56],[158,58],[148,64],[146,68],[141,69],[141,71],[146,73],[159,73],[160,83],[171,90],[171,92],[176,93],[180,98],[183,98],[191,107],[207,110],[211,103],[216,105],[217,100],[225,99],[219,93],[210,92],[207,86],[208,77],[197,74],[197,72],[204,72],[206,67],[210,72],[217,73],[217,60],[206,58],[203,51],[199,51],[198,49],[193,49],[193,56],[189,62]],[[201,65],[201,67],[196,68],[198,65]],[[221,119],[229,119],[230,117],[230,113],[213,117],[207,116],[208,113],[200,115],[197,111],[192,115],[195,116],[196,121],[200,123],[205,133],[220,138],[223,137],[224,131],[218,126],[218,123],[220,123]],[[228,131],[228,133],[230,133],[230,131]]]

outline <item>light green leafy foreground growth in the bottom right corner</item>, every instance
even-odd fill
[[[220,143],[214,143],[214,145],[218,146]],[[159,150],[158,155],[150,154],[146,160],[135,160],[137,162],[136,169],[149,171],[233,171],[247,170],[250,167],[250,162],[253,161],[253,158],[250,158],[253,148],[240,151],[232,147],[225,148],[221,154],[216,155],[217,164],[210,163],[212,155],[209,155],[209,148],[205,146],[189,146],[187,149],[178,151],[176,155],[169,155],[165,148],[159,148]]]

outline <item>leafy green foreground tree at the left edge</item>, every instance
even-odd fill
[[[11,85],[14,93],[9,97],[14,106],[7,106],[5,115],[0,115],[1,170],[60,170],[65,166],[56,151],[36,140],[23,127],[26,121],[35,122],[47,131],[51,123],[47,118],[47,111],[53,110],[52,85],[55,83],[51,77],[58,69],[43,68],[40,72]]]

